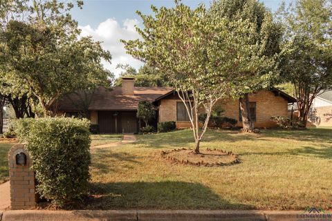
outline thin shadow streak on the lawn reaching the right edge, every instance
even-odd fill
[[[288,149],[287,151],[269,152],[246,152],[241,155],[301,155],[306,157],[320,157],[323,159],[332,159],[332,146],[320,145],[321,148],[313,146],[303,146],[301,148]]]

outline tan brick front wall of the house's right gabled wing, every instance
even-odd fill
[[[250,102],[256,102],[256,127],[275,127],[275,122],[270,121],[271,116],[287,116],[288,103],[286,99],[281,96],[275,96],[274,93],[268,90],[261,90],[258,93],[249,95]],[[181,102],[181,99],[162,99],[159,106],[160,122],[175,121],[178,128],[190,128],[190,122],[176,121],[176,102]],[[225,110],[223,115],[231,117],[239,121],[239,100],[228,99],[218,102]],[[203,111],[202,111],[203,112]],[[242,126],[239,122],[238,126]]]

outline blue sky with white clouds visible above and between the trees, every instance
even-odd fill
[[[260,0],[273,12],[279,8],[282,0]],[[289,3],[292,0],[285,0]],[[204,3],[210,6],[210,0],[183,0],[192,8]],[[102,41],[102,47],[109,50],[112,55],[111,64],[104,62],[105,68],[111,70],[116,77],[121,70],[117,64],[129,64],[134,68],[142,66],[140,61],[126,54],[120,39],[137,39],[138,33],[135,26],[142,26],[140,17],[136,14],[139,10],[145,15],[150,15],[151,4],[156,7],[174,6],[173,0],[85,0],[83,9],[74,8],[73,19],[82,29],[82,36],[92,36],[95,41]]]

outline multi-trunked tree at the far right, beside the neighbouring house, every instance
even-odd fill
[[[297,0],[279,15],[286,29],[282,73],[293,84],[299,120],[306,126],[313,99],[332,90],[332,2]]]

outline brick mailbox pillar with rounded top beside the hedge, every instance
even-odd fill
[[[11,209],[35,209],[33,161],[24,144],[16,144],[8,153]]]

